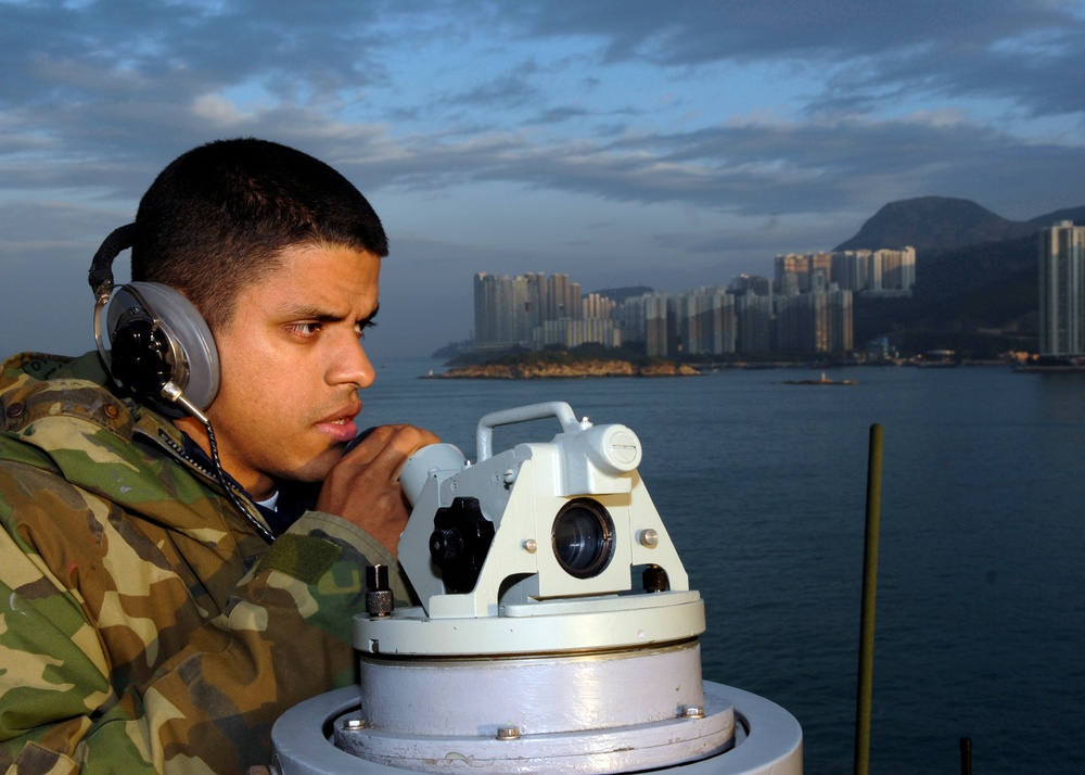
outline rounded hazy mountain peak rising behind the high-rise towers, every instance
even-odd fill
[[[1031,237],[1037,228],[1037,224],[1007,220],[966,199],[919,196],[890,202],[855,237],[833,250],[899,250],[911,245],[918,255]]]

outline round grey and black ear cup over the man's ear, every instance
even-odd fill
[[[220,374],[215,338],[182,293],[158,282],[120,285],[106,325],[118,382],[158,403],[168,381],[201,410],[215,401]]]

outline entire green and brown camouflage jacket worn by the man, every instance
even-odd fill
[[[0,771],[266,764],[284,710],[354,681],[365,566],[398,566],[315,511],[268,545],[103,384],[97,354],[0,371]]]

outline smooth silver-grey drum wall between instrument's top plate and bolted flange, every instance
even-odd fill
[[[697,640],[515,659],[360,660],[361,716],[386,736],[494,737],[603,730],[704,704]]]

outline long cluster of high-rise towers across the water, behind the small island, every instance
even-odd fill
[[[855,255],[856,253],[860,255]],[[878,254],[892,254],[880,256]],[[705,285],[682,292],[644,291],[618,295],[580,293],[567,275],[474,276],[474,321],[471,338],[450,343],[476,354],[514,348],[572,350],[585,344],[627,347],[649,357],[728,355],[735,353],[837,353],[856,350],[852,288],[841,288],[835,269],[858,293],[875,297],[910,295],[910,284],[884,288],[882,258],[899,264],[915,251],[848,251],[846,254],[804,256],[801,262],[778,256],[777,284],[740,275],[725,285]],[[812,268],[815,258],[826,258]],[[863,258],[871,267],[865,277],[854,271]],[[788,258],[795,259],[793,254]],[[897,267],[899,268],[899,267]],[[806,276],[800,279],[799,271]],[[897,271],[898,282],[908,272]],[[886,274],[885,276],[892,277]],[[617,295],[617,294],[615,294]],[[861,344],[861,343],[860,343]],[[860,346],[859,350],[863,347]]]

